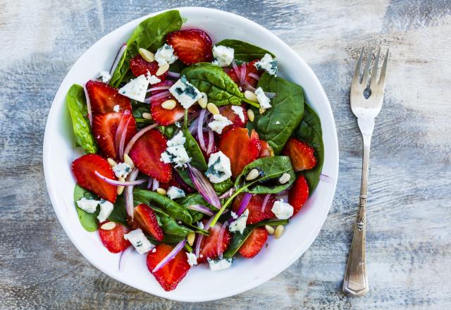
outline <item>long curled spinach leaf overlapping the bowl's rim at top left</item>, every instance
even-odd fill
[[[128,63],[138,54],[140,47],[149,51],[156,51],[166,42],[169,32],[180,30],[183,20],[177,10],[166,11],[157,16],[147,18],[137,25],[132,36],[128,39],[127,48],[111,77],[110,85],[118,87],[128,74]]]

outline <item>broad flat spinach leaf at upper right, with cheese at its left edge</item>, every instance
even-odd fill
[[[260,139],[268,142],[273,147],[274,154],[277,155],[301,123],[304,115],[302,87],[268,73],[261,75],[257,86],[265,92],[275,92],[276,97],[271,99],[272,108],[264,114],[252,108],[255,119],[247,123],[247,128],[256,130]]]

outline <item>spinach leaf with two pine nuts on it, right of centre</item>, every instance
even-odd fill
[[[291,166],[290,157],[264,157],[257,159],[256,161],[252,161],[252,163],[245,166],[242,173],[240,173],[235,180],[236,188],[243,187],[250,183],[249,181],[246,181],[246,176],[247,173],[254,168],[257,168],[257,170],[260,171],[260,177],[256,181],[252,181],[254,184],[250,185],[242,192],[252,192],[253,194],[278,193],[290,187],[292,182],[295,182],[296,179],[295,171],[293,171]],[[280,178],[283,173],[289,173],[290,180],[285,184],[280,184],[280,182],[278,182],[278,178]]]

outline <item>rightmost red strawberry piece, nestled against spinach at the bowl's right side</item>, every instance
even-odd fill
[[[314,152],[314,148],[310,147],[309,144],[297,140],[296,138],[290,138],[287,144],[285,144],[282,154],[290,156],[295,171],[303,171],[316,166]]]

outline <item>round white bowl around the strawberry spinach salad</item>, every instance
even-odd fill
[[[209,271],[206,266],[197,266],[187,274],[172,292],[165,292],[149,273],[146,255],[127,250],[118,268],[120,254],[111,254],[101,244],[98,233],[87,233],[78,221],[73,204],[75,178],[70,170],[72,161],[82,155],[74,149],[73,130],[66,109],[66,92],[70,85],[82,85],[101,70],[108,70],[116,51],[127,42],[132,30],[150,14],[133,20],[101,38],[91,46],[70,69],[61,83],[47,119],[44,137],[44,172],[51,203],[58,220],[85,258],[101,271],[132,287],[160,297],[183,301],[205,302],[233,296],[256,287],[299,259],[318,235],[332,204],[338,178],[338,142],[332,110],[319,80],[290,46],[276,35],[233,13],[211,8],[178,8],[187,18],[184,28],[206,30],[218,42],[221,39],[241,39],[272,51],[278,57],[280,75],[302,85],[307,101],[321,118],[325,160],[321,180],[307,204],[290,221],[280,240],[268,240],[268,247],[254,259],[237,259],[232,268],[224,271]]]

